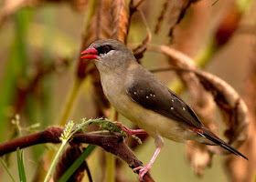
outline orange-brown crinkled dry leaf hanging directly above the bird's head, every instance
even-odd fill
[[[129,30],[129,12],[125,0],[112,0],[112,35],[111,38],[126,44]]]

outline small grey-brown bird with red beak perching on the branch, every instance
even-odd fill
[[[112,106],[155,138],[155,154],[148,165],[133,169],[140,169],[139,180],[143,180],[164,147],[163,137],[176,142],[196,140],[202,144],[219,145],[244,157],[203,126],[195,112],[138,64],[132,51],[122,42],[99,40],[81,54],[84,55],[81,58],[92,59],[97,66],[103,92]]]

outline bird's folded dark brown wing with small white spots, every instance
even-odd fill
[[[203,126],[195,112],[180,97],[158,80],[150,80],[136,80],[127,89],[134,102],[173,120],[186,122],[190,126]]]

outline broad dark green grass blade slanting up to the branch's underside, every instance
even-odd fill
[[[88,157],[96,146],[89,145],[78,157],[75,162],[69,167],[69,169],[59,178],[58,182],[65,182],[69,180],[69,177],[77,170],[83,163],[86,157]]]

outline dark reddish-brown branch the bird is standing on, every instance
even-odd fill
[[[0,145],[0,156],[16,151],[16,148],[31,147],[45,143],[60,143],[59,137],[63,129],[57,126],[48,127],[48,129],[21,136]],[[102,147],[107,152],[122,158],[131,168],[143,166],[143,163],[135,157],[133,151],[123,143],[123,135],[109,131],[95,131],[90,133],[76,133],[72,137],[72,143],[87,143]],[[138,174],[139,171],[136,171]],[[153,182],[154,179],[150,174],[144,176],[144,181]]]

